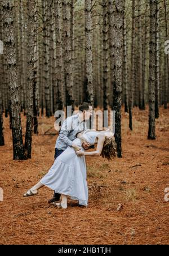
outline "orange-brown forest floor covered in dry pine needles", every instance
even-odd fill
[[[48,204],[53,193],[46,187],[35,197],[23,197],[54,161],[55,130],[45,135],[54,118],[39,118],[32,159],[26,161],[12,160],[8,121],[6,146],[0,148],[0,244],[169,244],[169,202],[164,200],[169,187],[168,109],[160,109],[156,140],[147,140],[148,107],[134,108],[133,131],[122,109],[122,158],[86,157],[88,207],[69,199],[67,210]],[[25,121],[22,116],[23,127]]]

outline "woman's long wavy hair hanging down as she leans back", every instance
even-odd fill
[[[117,144],[115,143],[114,136],[105,137],[105,142],[103,146],[103,150],[101,152],[101,156],[108,160],[112,160],[117,156]]]

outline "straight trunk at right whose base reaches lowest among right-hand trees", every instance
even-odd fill
[[[150,45],[149,45],[149,131],[148,139],[155,139],[155,0],[150,0]]]

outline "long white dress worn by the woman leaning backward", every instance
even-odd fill
[[[95,144],[97,131],[89,131],[83,134],[90,145]],[[81,150],[81,140],[73,141]],[[69,195],[73,200],[79,200],[79,204],[87,206],[88,187],[86,181],[86,161],[84,156],[77,156],[72,147],[68,147],[52,165],[48,173],[42,178],[41,183],[56,193]]]

